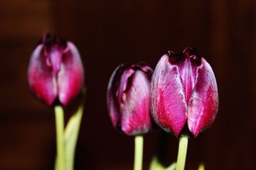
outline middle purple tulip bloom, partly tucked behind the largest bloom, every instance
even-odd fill
[[[127,135],[144,134],[151,128],[150,80],[153,69],[145,64],[121,64],[113,72],[107,93],[113,126]]]

